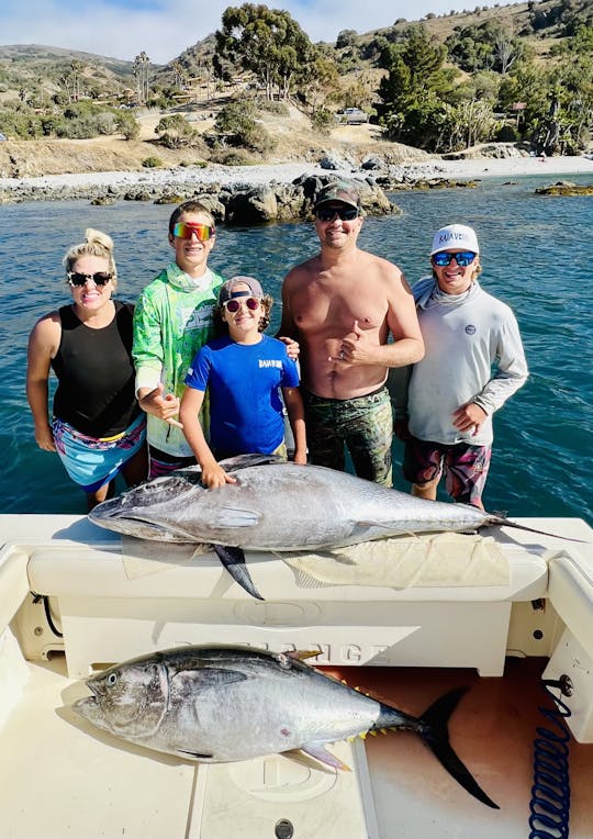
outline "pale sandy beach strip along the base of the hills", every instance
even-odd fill
[[[550,178],[570,175],[591,175],[593,156],[580,157],[478,157],[463,160],[435,158],[428,163],[390,166],[391,177],[402,180],[450,178],[454,180],[483,179],[490,177],[514,178],[526,175],[549,175]],[[0,178],[0,190],[7,192],[80,187],[160,187],[166,184],[197,186],[199,183],[262,184],[276,181],[290,183],[301,175],[328,175],[327,169],[311,163],[290,163],[257,166],[219,166],[203,168],[177,167],[175,169],[147,169],[143,171],[105,171],[88,174],[48,175],[38,178]],[[336,174],[353,178],[373,177],[373,170],[342,169]]]

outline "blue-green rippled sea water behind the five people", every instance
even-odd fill
[[[578,516],[593,523],[592,304],[593,200],[534,193],[553,176],[475,189],[403,192],[404,211],[368,219],[361,247],[398,264],[411,282],[428,270],[438,227],[474,226],[482,247],[482,286],[508,303],[522,331],[530,378],[496,414],[484,502],[511,516]],[[586,176],[571,176],[588,182]],[[26,343],[35,321],[70,299],[61,257],[87,226],[115,240],[121,299],[134,300],[170,259],[171,206],[120,202],[38,202],[0,206],[0,499],[2,513],[81,513],[81,492],[56,455],[41,451],[25,399]],[[316,250],[310,224],[219,231],[212,266],[226,277],[250,273],[280,300],[287,270]],[[280,304],[272,310],[273,334]],[[451,363],[455,359],[451,359]],[[394,444],[394,482],[402,448]]]

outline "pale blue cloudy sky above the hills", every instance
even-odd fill
[[[261,0],[253,0],[261,2]],[[38,44],[133,61],[143,49],[167,64],[220,29],[222,14],[243,0],[0,0],[0,44]],[[391,26],[399,18],[508,5],[510,0],[280,0],[311,41],[334,43],[343,30]],[[412,11],[411,11],[412,9]]]

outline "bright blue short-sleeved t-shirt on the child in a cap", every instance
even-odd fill
[[[209,342],[192,361],[186,384],[210,394],[210,444],[221,455],[269,455],[284,439],[279,388],[296,388],[299,370],[281,340],[261,335],[237,344]]]

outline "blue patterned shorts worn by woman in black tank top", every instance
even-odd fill
[[[114,437],[89,437],[68,423],[54,418],[56,451],[69,478],[85,492],[96,492],[109,483],[136,455],[146,440],[146,414],[141,414],[125,432]]]

